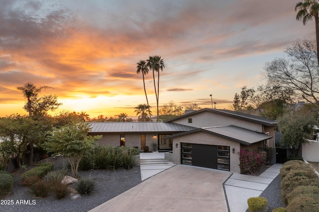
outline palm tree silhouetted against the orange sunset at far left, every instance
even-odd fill
[[[19,91],[22,91],[23,96],[27,99],[26,108],[29,112],[29,117],[32,116],[32,98],[36,98],[42,90],[45,90],[47,88],[53,87],[49,87],[46,85],[36,87],[32,82],[27,82],[24,84],[24,86],[17,87]]]

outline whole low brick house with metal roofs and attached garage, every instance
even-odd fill
[[[165,122],[91,123],[103,145],[152,146],[171,150],[171,160],[240,173],[240,149],[275,147],[277,122],[230,110],[204,108]]]

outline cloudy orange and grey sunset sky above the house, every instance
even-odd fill
[[[159,55],[160,105],[230,109],[244,85],[265,83],[266,62],[315,22],[298,0],[0,0],[0,116],[26,114],[17,86],[54,87],[59,111],[135,116],[146,103],[137,62]],[[146,76],[156,108],[152,72]],[[154,112],[154,114],[156,114]]]

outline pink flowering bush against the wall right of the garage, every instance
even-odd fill
[[[260,167],[266,162],[265,151],[251,152],[248,149],[240,149],[239,152],[239,166],[242,171],[249,171],[250,174],[256,170],[260,170]]]

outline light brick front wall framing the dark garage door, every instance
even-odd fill
[[[180,164],[180,143],[197,143],[197,144],[209,144],[209,145],[223,145],[230,147],[230,172],[240,173],[239,168],[239,154],[240,143],[231,141],[226,138],[215,136],[212,134],[197,132],[180,137],[173,138],[173,162]],[[177,143],[177,148],[176,148]],[[235,148],[235,153],[232,149]]]

